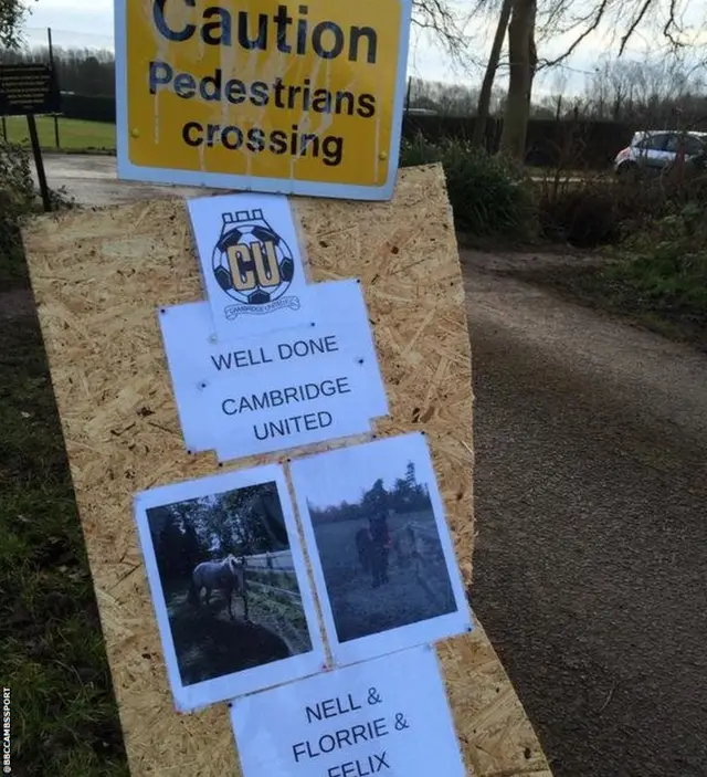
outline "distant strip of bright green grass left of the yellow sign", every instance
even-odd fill
[[[27,118],[24,116],[9,116],[6,120],[8,140],[29,146],[30,133],[27,126]],[[46,151],[115,150],[115,124],[60,118],[60,148],[56,148],[54,119],[51,116],[38,116],[36,128],[40,136],[40,146]]]

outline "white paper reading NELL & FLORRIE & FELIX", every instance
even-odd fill
[[[426,647],[235,700],[231,721],[244,777],[466,774]]]

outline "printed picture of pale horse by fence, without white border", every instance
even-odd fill
[[[312,650],[276,482],[145,514],[182,685]]]

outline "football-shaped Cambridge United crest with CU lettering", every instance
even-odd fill
[[[224,308],[226,319],[242,314],[299,309],[299,298],[286,296],[295,274],[289,246],[263,218],[262,210],[223,213],[213,250],[213,274],[236,304]]]

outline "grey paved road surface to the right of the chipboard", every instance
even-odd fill
[[[556,777],[707,775],[707,359],[465,260],[479,619]]]

